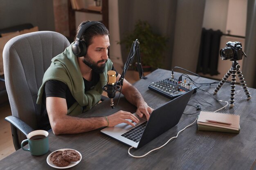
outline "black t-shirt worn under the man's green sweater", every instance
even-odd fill
[[[111,70],[116,71],[113,66]],[[83,78],[83,82],[85,86],[85,91],[88,91],[92,89],[99,82],[99,74],[92,72],[92,81],[88,81]],[[58,80],[48,80],[47,82],[45,82],[45,90],[44,90],[43,99],[42,99],[43,102],[42,102],[42,108],[41,108],[41,119],[40,119],[39,128],[44,130],[49,130],[51,126],[49,124],[49,117],[46,110],[46,97],[61,97],[66,99],[67,109],[70,108],[70,106],[72,106],[72,104],[74,104],[76,100],[72,96],[70,89],[65,83]]]

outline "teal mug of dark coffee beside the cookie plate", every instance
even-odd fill
[[[49,133],[45,130],[35,130],[27,135],[27,139],[21,142],[21,148],[29,151],[31,155],[44,155],[49,150]],[[26,149],[23,145],[28,142],[29,148]]]

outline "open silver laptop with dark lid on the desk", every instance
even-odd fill
[[[193,90],[188,91],[153,110],[148,121],[145,115],[140,118],[134,113],[139,119],[138,124],[133,122],[135,126],[121,123],[114,127],[104,128],[101,132],[128,146],[140,148],[179,123],[192,94]]]

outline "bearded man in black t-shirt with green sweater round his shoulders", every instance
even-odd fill
[[[86,30],[79,34],[81,29],[85,29],[83,26]],[[72,51],[72,47],[76,47],[73,42],[63,53],[52,59],[52,64],[43,77],[37,99],[38,104],[42,103],[41,128],[52,128],[54,134],[58,135],[87,132],[120,123],[135,126],[128,119],[135,123],[139,119],[123,110],[108,117],[74,117],[98,104],[103,92],[102,86],[106,85],[107,71],[115,70],[108,59],[109,34],[103,24],[82,22],[76,37],[78,35],[82,35],[79,38],[83,41],[79,43],[84,43],[80,46],[86,49],[81,49],[86,51],[85,54],[76,57],[74,49]],[[117,80],[120,76],[117,75]],[[126,99],[137,106],[137,115],[142,117],[144,114],[148,119],[153,109],[146,104],[139,91],[125,79],[122,88]],[[47,127],[49,123],[50,126]]]

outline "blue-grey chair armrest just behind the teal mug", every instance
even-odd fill
[[[5,117],[6,121],[9,121],[11,125],[16,127],[20,132],[22,132],[25,136],[29,134],[29,132],[32,132],[34,129],[31,128],[28,124],[26,124],[24,121],[20,120],[18,117],[15,116],[8,116]]]

